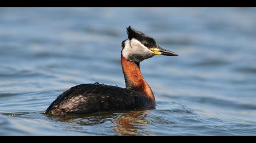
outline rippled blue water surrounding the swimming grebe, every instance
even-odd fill
[[[126,27],[179,54],[141,71],[155,110],[54,118],[77,84],[125,87]],[[256,135],[256,8],[1,8],[0,135]]]

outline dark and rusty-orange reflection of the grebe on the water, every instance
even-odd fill
[[[86,130],[86,126],[105,124],[110,121],[112,124],[108,125],[108,127],[113,128],[113,131],[116,131],[118,135],[136,136],[138,135],[138,129],[143,131],[141,128],[144,125],[151,124],[146,119],[149,113],[150,110],[133,110],[115,113],[101,112],[90,115],[68,115],[62,118],[49,115],[49,118],[57,119],[60,122],[69,122],[71,124],[66,129],[79,131]]]

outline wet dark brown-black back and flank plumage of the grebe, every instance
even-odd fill
[[[60,95],[45,111],[51,115],[150,109],[152,101],[138,91],[104,84],[81,84]]]

